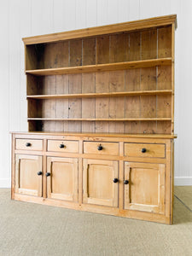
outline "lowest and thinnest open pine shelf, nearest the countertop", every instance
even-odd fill
[[[171,121],[172,118],[150,118],[150,119],[49,119],[49,118],[28,118],[28,121]]]

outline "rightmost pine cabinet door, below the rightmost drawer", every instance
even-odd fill
[[[165,213],[165,165],[125,162],[124,207]]]

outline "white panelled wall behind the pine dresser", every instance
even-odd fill
[[[191,0],[0,0],[0,187],[10,185],[9,131],[27,131],[21,38],[177,14],[175,181],[192,185]]]

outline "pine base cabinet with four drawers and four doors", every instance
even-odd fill
[[[172,139],[15,134],[13,145],[15,200],[172,223]]]

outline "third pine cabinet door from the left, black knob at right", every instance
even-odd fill
[[[118,207],[118,162],[110,160],[84,160],[83,202]]]

